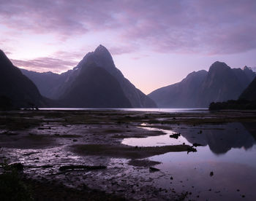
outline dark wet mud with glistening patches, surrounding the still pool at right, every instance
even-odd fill
[[[60,189],[86,193],[95,189],[94,193],[99,197],[91,200],[105,200],[106,197],[110,200],[197,200],[186,188],[179,192],[173,190],[175,186],[173,189],[159,188],[155,181],[166,174],[161,170],[152,171],[151,167],[159,162],[147,159],[171,151],[195,151],[195,147],[187,144],[126,146],[121,141],[164,135],[160,129],[178,127],[182,130],[227,122],[244,122],[255,130],[252,125],[256,125],[256,114],[253,111],[175,114],[146,111],[1,112],[0,160],[21,162],[26,181],[48,186],[44,187],[45,192],[52,192],[52,195]],[[147,130],[146,127],[159,130]],[[104,165],[107,168],[61,171],[59,168],[64,165]],[[89,190],[84,191],[85,188]]]

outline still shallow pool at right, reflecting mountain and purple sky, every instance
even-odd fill
[[[156,181],[159,186],[188,192],[195,200],[255,200],[256,136],[252,123],[171,126],[172,130],[162,130],[165,135],[122,141],[130,146],[203,145],[197,146],[197,152],[193,153],[170,152],[148,158],[161,162],[155,167],[166,173]],[[175,132],[181,136],[170,138]]]

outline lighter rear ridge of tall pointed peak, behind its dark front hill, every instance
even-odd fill
[[[93,64],[93,65],[92,65]],[[39,90],[43,92],[43,94],[48,98],[53,98],[58,100],[59,98],[67,98],[67,91],[76,82],[76,79],[81,76],[82,69],[91,68],[91,65],[97,68],[98,70],[103,68],[113,79],[116,79],[119,87],[121,87],[121,91],[124,93],[125,97],[128,99],[130,103],[130,107],[133,108],[152,108],[156,107],[154,101],[151,98],[148,98],[143,92],[138,90],[128,79],[124,77],[121,71],[116,68],[113,58],[110,55],[110,52],[102,45],[99,45],[94,52],[89,52],[86,56],[78,63],[78,66],[69,70],[63,74],[37,74],[40,77],[40,82],[38,84]],[[102,69],[100,70],[102,71]],[[23,71],[24,74],[34,79],[28,72]],[[83,75],[85,76],[85,75]],[[88,76],[83,79],[89,79]],[[95,77],[94,79],[98,79]],[[43,80],[48,80],[47,84],[43,84]],[[35,83],[38,83],[37,80],[34,79]],[[41,84],[42,83],[42,84]],[[91,83],[91,82],[90,82]],[[106,83],[108,84],[108,83]],[[93,87],[91,85],[91,87]],[[45,90],[47,89],[47,90]],[[95,91],[95,93],[97,93]],[[127,104],[126,104],[127,105]]]

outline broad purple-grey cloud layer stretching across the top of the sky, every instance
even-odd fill
[[[255,0],[1,0],[0,23],[64,40],[108,31],[119,55],[134,47],[218,55],[256,48],[255,10]]]

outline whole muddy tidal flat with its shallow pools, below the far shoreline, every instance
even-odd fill
[[[3,111],[0,123],[1,162],[22,163],[26,181],[47,186],[45,194],[69,189],[97,194],[92,200],[256,197],[254,111]]]

